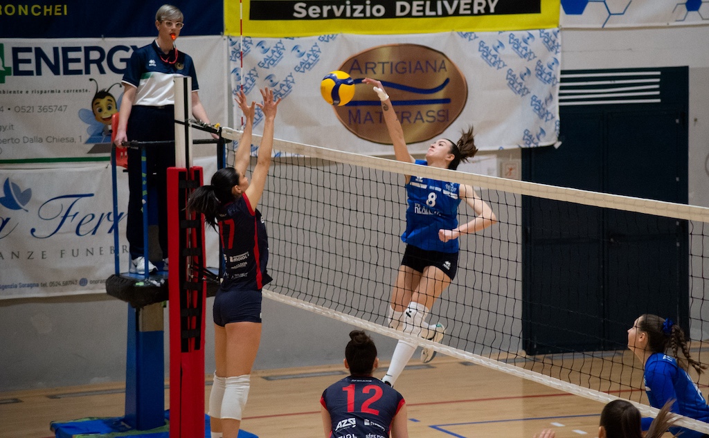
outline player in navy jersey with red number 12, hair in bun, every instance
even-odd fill
[[[333,383],[320,398],[325,438],[408,438],[406,402],[400,393],[372,376],[379,359],[371,337],[350,332],[345,368],[350,376]]]

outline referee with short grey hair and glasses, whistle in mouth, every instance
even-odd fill
[[[174,140],[175,77],[192,78],[192,114],[209,123],[199,100],[199,82],[192,58],[177,50],[174,41],[184,26],[182,11],[165,4],[155,14],[157,38],[130,55],[123,74],[123,99],[119,110],[116,145],[124,141]],[[175,165],[174,145],[150,145],[145,149],[148,188],[157,189],[158,240],[167,265],[167,168]],[[128,211],[126,237],[130,264],[128,271],[145,273],[143,247],[143,179],[140,150],[128,149]],[[167,266],[164,266],[167,270]],[[148,262],[148,270],[156,271]]]

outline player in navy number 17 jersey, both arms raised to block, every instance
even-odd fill
[[[209,396],[212,438],[236,438],[250,388],[251,369],[261,342],[261,290],[271,277],[267,272],[266,225],[256,206],[266,185],[273,150],[274,119],[281,99],[262,89],[263,103],[237,101],[246,125],[235,152],[234,167],[219,169],[211,184],[192,193],[188,210],[202,213],[209,225],[219,228],[225,272],[214,298],[214,356],[216,371]],[[250,162],[255,105],[264,115],[264,132],[251,181]]]

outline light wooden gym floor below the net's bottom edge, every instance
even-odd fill
[[[616,355],[623,362],[632,360],[630,352]],[[383,370],[384,366],[376,376]],[[256,371],[242,428],[265,438],[323,437],[320,394],[344,376],[342,366]],[[709,392],[708,380],[706,375],[700,380],[705,395]],[[636,381],[634,377],[634,386]],[[647,403],[641,387],[626,389],[623,397],[642,398]],[[597,437],[603,408],[603,403],[447,356],[439,356],[428,365],[414,358],[396,389],[406,398],[412,438],[532,438],[547,427],[556,429],[559,438],[591,438]],[[123,390],[122,384],[102,383],[0,393],[0,437],[52,437],[50,421],[121,417]],[[165,405],[169,406],[168,390]]]

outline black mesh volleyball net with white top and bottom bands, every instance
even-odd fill
[[[525,283],[540,281],[523,276],[523,252],[528,244],[522,220],[525,198],[563,203],[572,223],[590,220],[586,207],[576,207],[624,210],[652,215],[658,223],[665,223],[665,218],[673,224],[686,221],[691,293],[688,317],[681,325],[693,339],[693,358],[707,363],[708,347],[702,339],[709,339],[705,312],[709,279],[703,274],[709,266],[709,208],[435,169],[286,140],[274,140],[274,151],[262,196],[269,220],[269,271],[274,278],[264,290],[267,298],[602,403],[630,399],[642,415],[652,417],[658,410],[642,403],[642,364],[627,349],[627,342],[611,343],[612,347],[599,351],[559,347],[558,353],[525,352],[529,345],[523,335],[525,325],[552,327],[550,321],[525,316],[525,307],[546,305],[523,293]],[[479,234],[460,237],[458,274],[432,307],[428,320],[445,322],[450,329],[441,343],[392,330],[386,317],[404,249],[400,239],[406,215],[404,175],[473,186],[498,218],[496,225]],[[471,220],[471,215],[471,209],[461,208],[459,222]],[[556,224],[543,220],[544,210],[538,215],[541,219],[531,226],[555,229]],[[597,237],[587,237],[593,238]],[[582,301],[585,281],[579,278],[569,286],[569,301]],[[674,293],[682,292],[686,293]],[[612,298],[613,305],[624,305],[620,301],[624,297]],[[548,310],[566,315],[569,311],[564,305],[555,303]],[[588,318],[575,315],[576,319]],[[624,327],[621,336],[632,325],[632,320],[599,318]],[[573,322],[564,335],[581,337]],[[605,335],[599,336],[603,341]],[[696,383],[696,376],[690,375]],[[406,370],[401,378],[406,378]],[[709,432],[707,423],[688,417],[681,417],[677,424]]]

